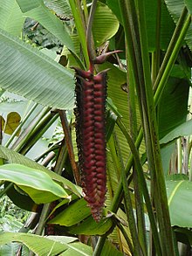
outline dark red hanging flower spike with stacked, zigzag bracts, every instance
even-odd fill
[[[106,195],[106,71],[94,76],[74,69],[79,168],[85,199],[98,222]]]

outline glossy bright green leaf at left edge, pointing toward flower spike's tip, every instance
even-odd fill
[[[51,180],[45,172],[21,164],[5,164],[0,167],[0,180],[17,184],[37,204],[45,204],[60,197],[68,197],[65,190]]]

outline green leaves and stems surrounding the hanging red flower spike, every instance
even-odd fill
[[[2,3],[1,255],[191,254],[191,11],[188,0]],[[95,66],[109,68],[99,223],[79,183],[73,116],[87,26],[93,56],[122,50]]]

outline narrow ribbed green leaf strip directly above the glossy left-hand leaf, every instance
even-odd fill
[[[78,197],[80,197],[82,194],[81,188],[73,184],[69,180],[65,179],[65,177],[59,176],[57,173],[54,173],[51,170],[47,170],[43,165],[40,165],[35,161],[32,161],[31,159],[27,158],[26,156],[22,156],[17,152],[11,149],[7,149],[1,145],[0,145],[0,157],[3,158],[4,160],[7,160],[8,163],[19,163],[27,167],[30,167],[32,169],[41,170],[45,172],[47,175],[51,176],[53,180],[60,183],[66,190],[70,190],[72,193],[76,194]]]

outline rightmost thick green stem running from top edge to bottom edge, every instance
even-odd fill
[[[147,163],[151,172],[152,188],[154,188],[153,199],[160,228],[161,249],[163,255],[175,255],[173,234],[168,211],[168,198],[161,165],[161,152],[155,117],[154,96],[150,78],[149,59],[147,53],[147,34],[143,10],[144,2],[140,1],[138,5],[139,31],[137,34],[137,38],[139,37],[140,39],[140,45],[135,45],[135,52],[141,51],[141,53],[138,54],[139,59],[137,59],[138,70],[141,73],[141,81],[138,85],[138,91],[141,92]]]

